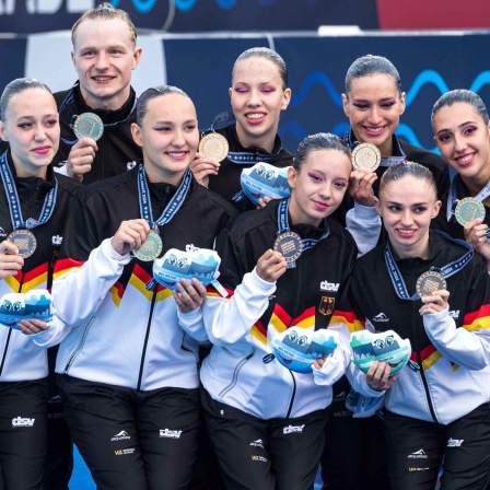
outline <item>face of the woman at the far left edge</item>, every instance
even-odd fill
[[[0,136],[10,143],[18,176],[46,178],[60,136],[55,98],[44,89],[23,90],[10,98],[5,116]]]

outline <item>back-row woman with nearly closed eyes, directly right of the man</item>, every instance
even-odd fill
[[[215,129],[228,140],[228,156],[220,163],[198,153],[190,168],[199,184],[246,211],[255,208],[247,198],[233,201],[242,189],[242,170],[257,162],[278,167],[292,164],[293,156],[278,136],[280,114],[291,100],[284,60],[264,47],[242,52],[233,66],[230,98],[236,121]]]

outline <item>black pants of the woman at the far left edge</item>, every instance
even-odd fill
[[[0,383],[0,490],[42,490],[47,381]]]

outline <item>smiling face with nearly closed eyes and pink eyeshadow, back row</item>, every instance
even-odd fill
[[[264,57],[245,58],[235,65],[232,83],[230,97],[240,142],[245,148],[255,145],[271,152],[279,115],[291,100],[279,68]]]

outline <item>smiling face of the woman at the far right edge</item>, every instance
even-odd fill
[[[434,141],[444,160],[467,182],[490,180],[490,125],[465,103],[441,107],[433,117]]]

